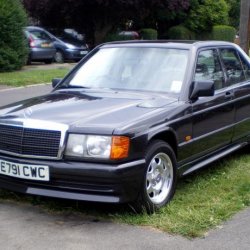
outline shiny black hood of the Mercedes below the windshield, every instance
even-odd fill
[[[34,120],[67,125],[71,130],[112,133],[177,99],[152,93],[113,90],[57,90],[0,109],[0,123],[9,120]]]

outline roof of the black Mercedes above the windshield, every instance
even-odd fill
[[[109,42],[101,47],[161,47],[161,48],[203,48],[216,46],[234,46],[235,44],[224,41],[195,41],[195,40],[129,40]]]

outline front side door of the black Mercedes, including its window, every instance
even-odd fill
[[[213,80],[215,94],[193,103],[192,157],[209,154],[228,145],[233,136],[234,93],[225,86],[217,49],[202,50],[198,54],[194,81]]]

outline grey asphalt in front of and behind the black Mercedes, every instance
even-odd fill
[[[50,90],[50,85],[0,89],[0,106]],[[0,249],[248,250],[250,208],[206,237],[188,240],[149,228],[98,221],[83,214],[58,215],[37,206],[0,201]]]

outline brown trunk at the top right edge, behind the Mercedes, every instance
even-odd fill
[[[250,39],[250,1],[241,0],[240,6],[240,46],[248,54]]]

